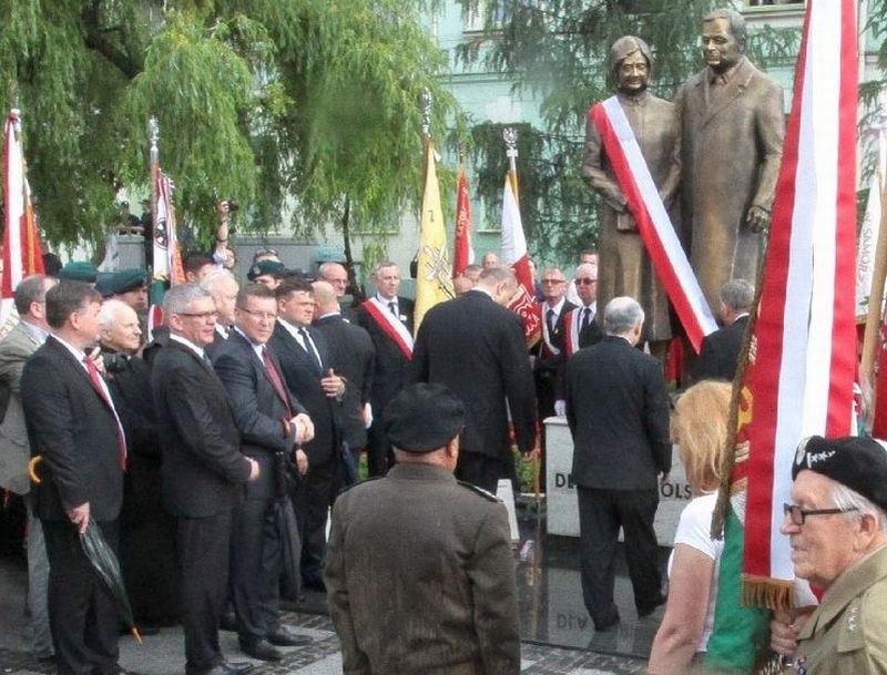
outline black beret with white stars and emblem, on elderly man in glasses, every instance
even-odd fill
[[[887,450],[878,441],[861,436],[812,436],[798,446],[792,480],[804,469],[846,485],[887,511]]]

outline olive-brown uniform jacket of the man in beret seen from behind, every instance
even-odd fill
[[[395,466],[333,508],[325,580],[347,675],[517,675],[504,507],[446,469]]]

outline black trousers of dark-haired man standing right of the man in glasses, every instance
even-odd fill
[[[341,490],[341,463],[333,458],[309,467],[294,499],[302,534],[302,579],[308,584],[323,581],[326,554],[326,519]]]

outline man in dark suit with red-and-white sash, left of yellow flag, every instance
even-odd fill
[[[373,270],[376,295],[357,308],[357,325],[369,333],[376,348],[370,415],[376,420],[367,438],[370,475],[384,475],[392,462],[391,443],[385,434],[381,415],[385,406],[409,382],[412,358],[412,300],[397,295],[400,272],[390,260]]]

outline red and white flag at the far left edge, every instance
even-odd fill
[[[0,325],[12,313],[12,294],[24,277],[43,274],[43,250],[37,232],[31,190],[24,172],[21,119],[18,110],[7,116],[3,140],[3,277]]]

